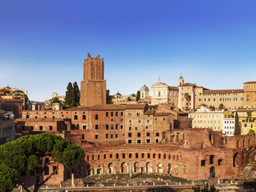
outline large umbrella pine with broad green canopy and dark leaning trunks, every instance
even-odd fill
[[[16,170],[37,170],[34,181],[35,192],[53,174],[57,173],[59,163],[62,163],[63,166],[75,166],[83,162],[83,159],[84,152],[79,146],[55,134],[26,135],[0,146],[0,162],[2,164]],[[57,165],[57,169],[51,174],[49,173],[46,179],[40,181],[44,170],[53,163]],[[18,184],[30,192],[22,182],[18,181]]]

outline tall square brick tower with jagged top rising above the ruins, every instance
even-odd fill
[[[104,80],[104,58],[87,58],[83,62],[83,81],[80,94],[81,106],[106,104],[106,80]]]

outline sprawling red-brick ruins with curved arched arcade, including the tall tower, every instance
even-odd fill
[[[226,137],[210,129],[189,129],[188,114],[171,106],[105,105],[104,61],[84,62],[81,106],[68,110],[26,110],[16,120],[16,137],[48,132],[81,146],[79,166],[59,169],[47,184],[92,174],[157,173],[186,179],[237,178],[256,160],[254,135]],[[94,105],[97,104],[97,105]],[[56,165],[49,166],[47,177]],[[23,171],[27,184],[35,177]]]

